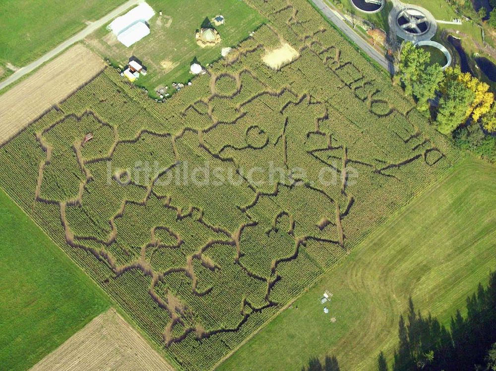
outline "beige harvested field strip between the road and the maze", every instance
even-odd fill
[[[0,143],[94,77],[103,60],[76,45],[0,96]]]

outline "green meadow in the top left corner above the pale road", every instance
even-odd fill
[[[124,0],[1,1],[0,65],[28,64],[121,3]]]

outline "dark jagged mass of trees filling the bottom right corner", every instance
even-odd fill
[[[410,299],[406,318],[398,322],[392,371],[496,370],[491,366],[496,364],[496,272],[490,273],[486,288],[479,283],[466,299],[466,309],[465,318],[457,311],[448,330],[431,314],[422,316]],[[377,369],[388,371],[382,352]]]

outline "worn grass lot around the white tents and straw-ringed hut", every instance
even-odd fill
[[[154,97],[159,86],[169,86],[168,92],[172,94],[173,82],[190,80],[193,58],[203,66],[219,59],[222,48],[235,47],[264,22],[256,10],[240,0],[149,0],[148,3],[156,12],[149,22],[151,33],[133,46],[126,48],[105,27],[86,41],[116,65],[125,65],[131,55],[140,58],[148,74],[141,76],[136,84]],[[160,10],[163,15],[159,15]],[[216,26],[222,41],[214,47],[200,48],[195,31],[206,18],[210,20],[219,14],[225,17],[225,24]]]

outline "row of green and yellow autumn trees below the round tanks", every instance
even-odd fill
[[[394,82],[411,95],[420,111],[430,115],[437,130],[461,148],[496,161],[496,103],[490,86],[463,73],[460,67],[442,70],[431,54],[410,42],[389,47],[398,64]]]

